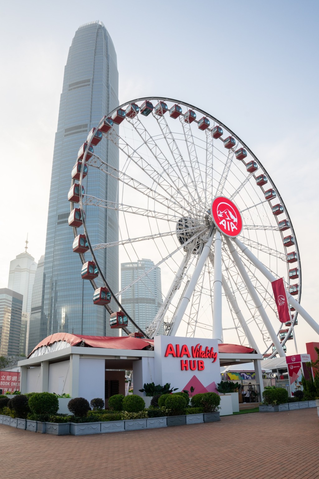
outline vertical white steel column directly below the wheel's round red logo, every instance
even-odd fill
[[[213,338],[222,343],[221,318],[221,236],[216,229],[214,240],[214,283],[213,283]]]

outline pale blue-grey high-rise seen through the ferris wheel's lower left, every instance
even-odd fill
[[[153,268],[154,262],[144,260],[121,263],[121,290]],[[162,304],[161,268],[156,266],[121,295],[121,304],[132,319],[145,331]]]

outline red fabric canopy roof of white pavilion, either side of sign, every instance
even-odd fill
[[[141,350],[154,344],[153,339],[141,339],[133,338],[132,336],[112,337],[112,336],[83,336],[81,334],[69,334],[67,332],[57,332],[47,336],[39,342],[39,344],[33,349],[40,348],[41,346],[49,346],[54,342],[66,341],[70,346],[76,346],[80,342],[84,342],[85,346],[91,346],[92,348],[109,348],[109,349],[132,349]],[[249,354],[255,350],[253,348],[247,348],[246,346],[240,346],[238,344],[219,344],[218,350],[220,353],[239,353]],[[32,353],[33,353],[32,351]],[[32,354],[30,353],[29,356]]]

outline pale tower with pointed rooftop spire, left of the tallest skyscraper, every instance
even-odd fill
[[[25,251],[18,254],[10,262],[8,288],[22,294],[22,319],[20,336],[20,354],[25,354],[28,342],[28,332],[31,313],[32,289],[37,263],[33,256],[27,252],[28,239],[25,241]]]

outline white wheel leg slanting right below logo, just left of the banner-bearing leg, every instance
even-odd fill
[[[285,354],[285,351],[283,350],[283,347],[282,345],[280,344],[280,341],[275,333],[275,330],[270,322],[270,319],[268,318],[267,316],[267,313],[266,311],[264,310],[264,307],[256,293],[256,290],[253,286],[253,283],[251,282],[250,280],[250,277],[248,276],[248,273],[244,267],[244,265],[242,264],[242,261],[240,259],[240,256],[239,254],[237,253],[237,251],[235,250],[231,240],[229,238],[226,238],[226,243],[227,243],[227,246],[229,248],[229,251],[231,252],[231,256],[239,270],[239,273],[240,275],[242,276],[242,281],[245,283],[246,285],[246,288],[248,289],[248,292],[250,294],[250,297],[252,298],[253,300],[253,303],[255,305],[255,307],[258,309],[258,312],[261,316],[261,318],[263,319],[264,321],[264,325],[266,326],[267,328],[267,331],[269,332],[270,334],[270,337],[275,345],[275,348],[279,354],[279,356],[281,357],[285,357],[286,354]]]

